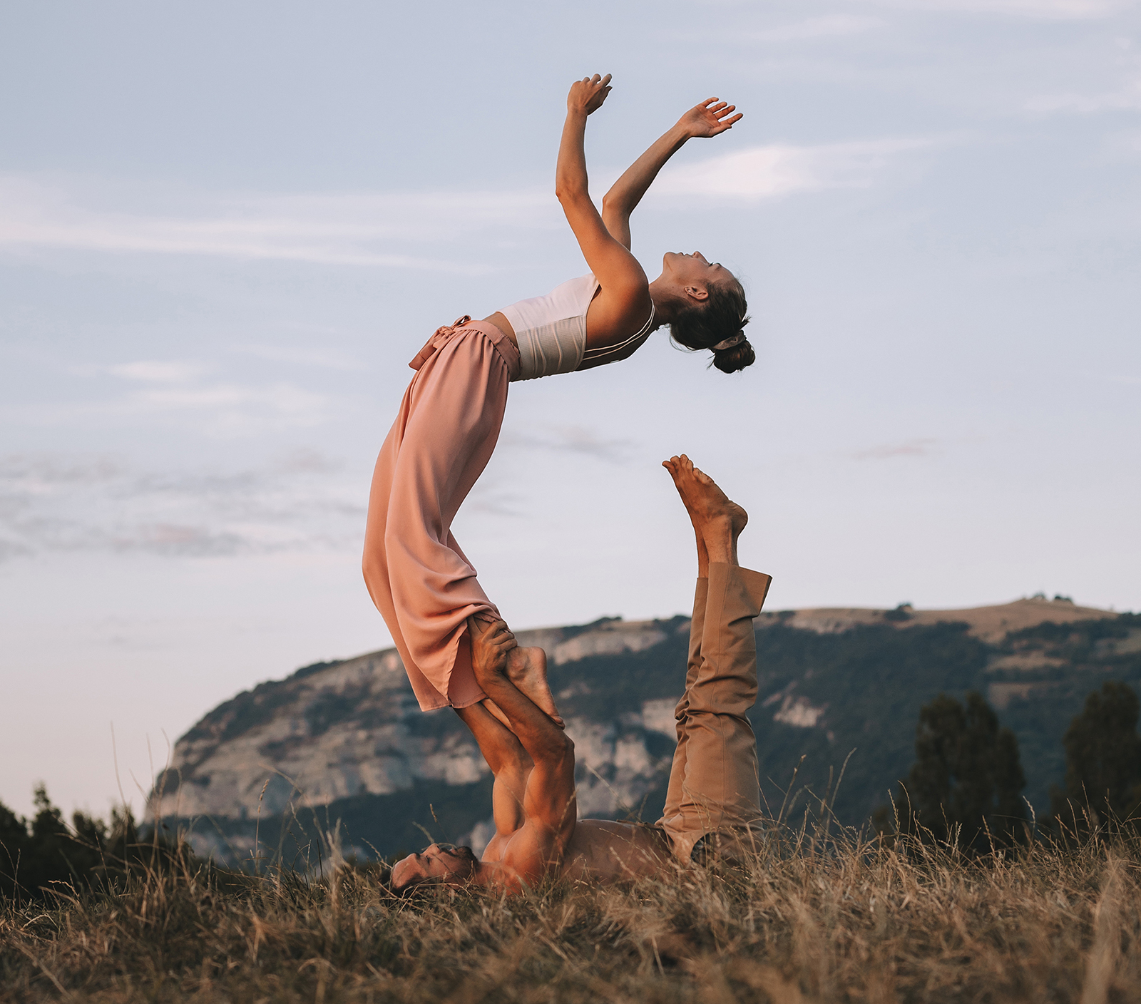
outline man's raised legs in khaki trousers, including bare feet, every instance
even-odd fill
[[[739,834],[760,819],[756,738],[746,713],[756,701],[753,618],[770,578],[737,564],[745,511],[688,458],[674,458],[666,468],[709,560],[701,634],[691,631],[686,694],[678,706],[672,802],[659,821],[674,855],[688,859],[705,834]]]

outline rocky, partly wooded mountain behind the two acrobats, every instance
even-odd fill
[[[823,777],[857,747],[861,755],[845,782],[856,790],[837,802],[837,813],[847,810],[855,821],[906,772],[921,703],[939,690],[989,689],[996,706],[1029,715],[1023,731],[1030,734],[1034,702],[1052,694],[1058,704],[1069,693],[1059,680],[1073,678],[1074,659],[1051,655],[1049,639],[1005,639],[1035,625],[1060,625],[1065,633],[1061,625],[1085,630],[1081,625],[1116,616],[1041,599],[972,610],[762,615],[753,723],[766,784],[779,802],[778,779],[802,753],[810,755],[808,768],[819,761]],[[552,689],[575,742],[581,815],[649,819],[659,811],[688,628],[687,618],[674,617],[519,632],[521,643],[548,651]],[[1090,657],[1101,658],[1098,665],[1123,658],[1133,665],[1131,630],[1114,642],[1123,650],[1102,646]],[[1141,677],[1141,656],[1132,657]],[[1083,680],[1070,686],[1078,704],[1083,688],[1092,689],[1085,683],[1095,685]],[[1068,706],[1063,701],[1051,712],[1049,728]],[[491,836],[489,790],[487,766],[466,727],[446,710],[422,713],[399,656],[386,649],[307,666],[219,705],[178,740],[154,800],[164,817],[199,820],[200,851],[221,857],[248,852],[258,827],[262,840],[280,843],[289,831],[300,842],[294,831],[315,824],[324,831],[338,819],[357,852],[391,853],[423,843],[424,827],[478,848]]]

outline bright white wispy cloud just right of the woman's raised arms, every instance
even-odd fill
[[[653,192],[657,196],[760,200],[825,188],[864,188],[899,157],[950,141],[942,137],[754,146],[663,172]]]

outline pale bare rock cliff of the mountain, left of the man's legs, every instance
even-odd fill
[[[548,651],[557,687],[559,666],[639,653],[687,637],[688,629],[686,618],[604,620],[521,631],[518,638]],[[679,695],[683,674],[682,666]],[[557,699],[585,693],[566,682]],[[637,804],[669,775],[675,703],[648,699],[612,720],[568,716],[583,812],[609,816]],[[219,705],[178,740],[170,769],[156,780],[155,801],[164,817],[251,820],[297,805],[393,795],[418,782],[466,786],[488,776],[462,722],[446,710],[421,712],[399,655],[383,649],[307,666]],[[484,842],[491,836],[484,827],[477,843],[480,834]],[[200,836],[203,845],[211,840],[209,832]]]

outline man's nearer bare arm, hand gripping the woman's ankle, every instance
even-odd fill
[[[533,884],[561,860],[577,821],[574,787],[574,743],[507,677],[507,653],[513,635],[502,621],[475,625],[479,649],[488,657],[472,657],[476,680],[511,722],[511,730],[534,767],[524,792],[524,824],[508,842],[502,865],[520,883]],[[510,639],[510,642],[507,639]]]

